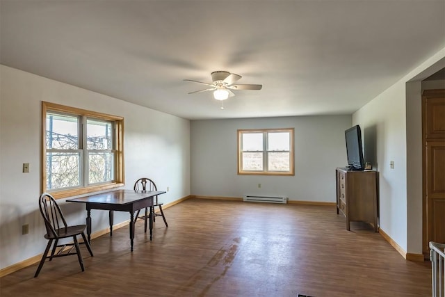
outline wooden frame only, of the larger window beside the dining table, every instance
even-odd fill
[[[114,143],[114,179],[111,182],[103,182],[103,183],[97,183],[97,184],[87,184],[82,185],[83,182],[86,179],[86,175],[84,172],[86,171],[85,162],[88,162],[85,158],[83,158],[83,164],[81,165],[82,168],[82,179],[81,180],[81,186],[76,187],[70,187],[70,188],[63,188],[63,189],[47,189],[47,145],[46,145],[46,131],[47,131],[47,112],[54,112],[54,113],[60,113],[65,115],[71,115],[76,116],[79,118],[79,129],[83,125],[83,122],[81,121],[82,118],[92,119],[92,120],[104,120],[108,122],[113,122],[113,143]],[[86,121],[85,120],[85,121]],[[40,159],[40,166],[41,166],[41,190],[42,193],[48,192],[53,195],[54,198],[60,199],[60,198],[67,198],[74,195],[83,195],[87,193],[92,193],[96,191],[104,191],[111,188],[118,188],[120,186],[124,186],[124,118],[117,115],[108,115],[106,113],[98,113],[95,111],[87,111],[85,109],[77,109],[70,106],[64,106],[60,104],[54,104],[51,102],[43,102],[42,101],[42,154]],[[86,135],[79,134],[79,137],[86,138]],[[82,139],[82,143],[85,140]],[[79,150],[81,150],[81,154],[83,156],[88,156],[88,152],[91,150],[88,150],[88,147],[79,147]]]

